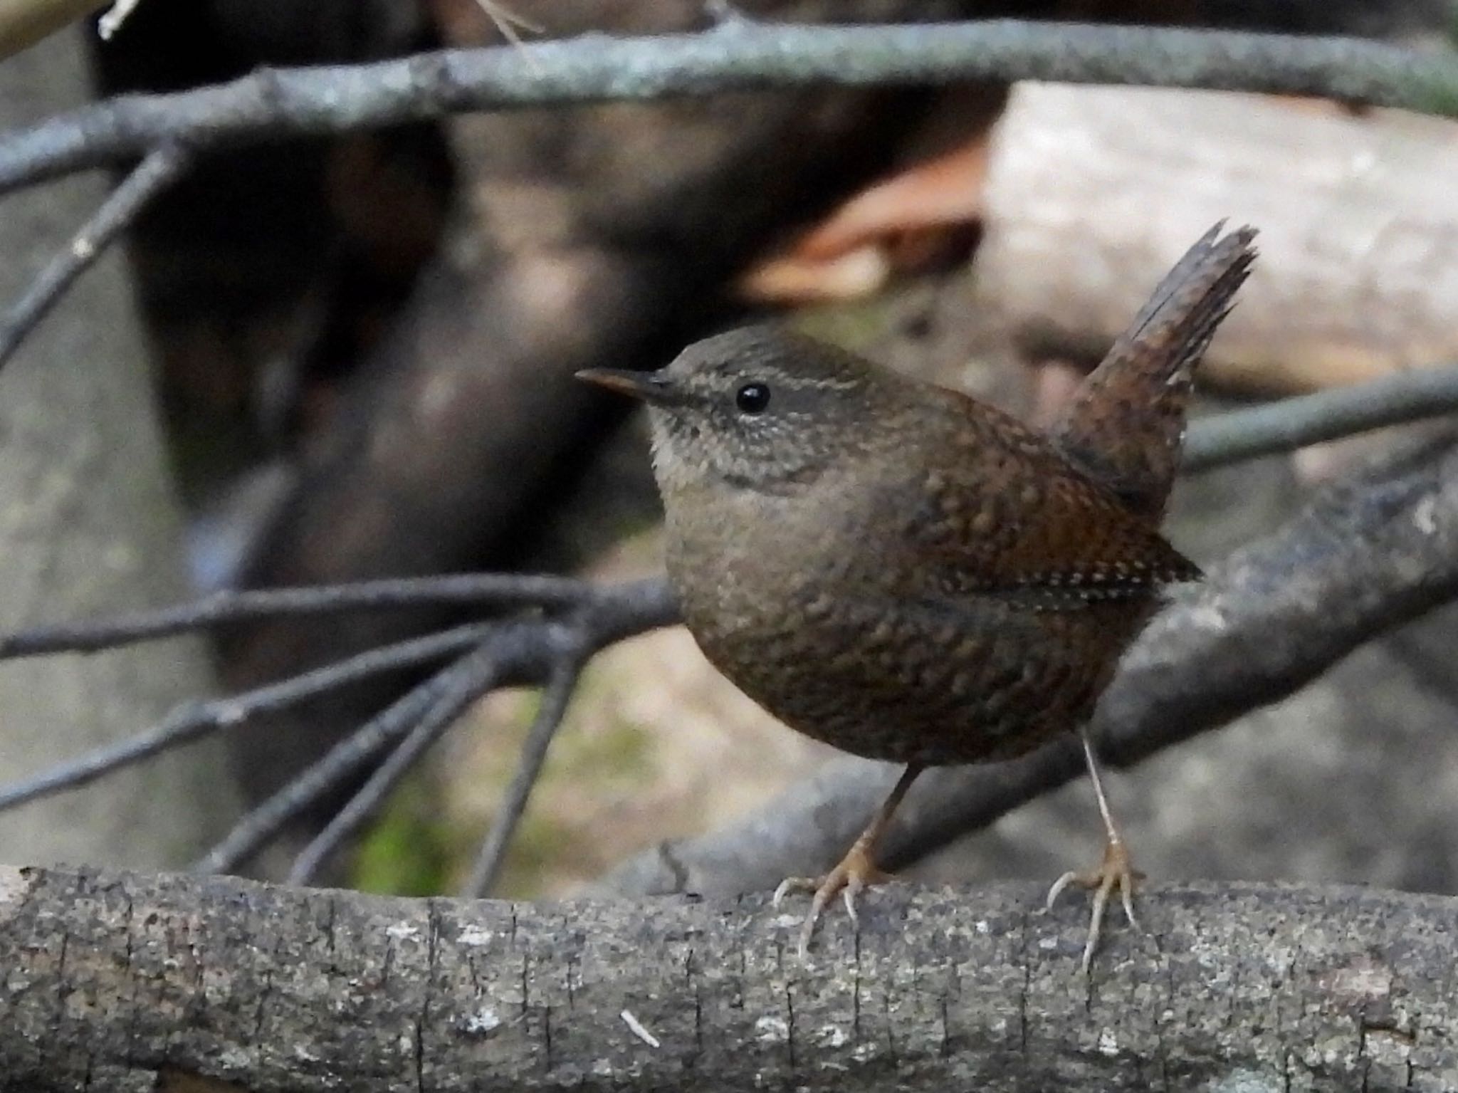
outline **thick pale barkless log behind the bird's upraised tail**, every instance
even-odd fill
[[[978,286],[1031,353],[1096,361],[1188,240],[1231,217],[1260,226],[1261,256],[1201,380],[1293,392],[1446,363],[1455,173],[1458,127],[1436,118],[1024,83],[989,157]]]

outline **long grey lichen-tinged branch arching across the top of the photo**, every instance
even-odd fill
[[[360,66],[261,70],[227,85],[83,106],[0,136],[0,191],[168,143],[248,144],[462,111],[707,96],[764,87],[1054,80],[1325,95],[1458,114],[1458,58],[1349,38],[972,22],[585,35]]]

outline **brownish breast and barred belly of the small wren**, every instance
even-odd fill
[[[771,714],[849,752],[930,764],[1021,753],[1075,727],[1145,611],[1040,615],[878,579],[868,529],[784,503],[669,504],[668,565],[709,660]],[[854,567],[850,567],[854,561]]]

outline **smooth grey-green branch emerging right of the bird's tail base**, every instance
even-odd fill
[[[1458,412],[1458,364],[1397,372],[1196,421],[1181,469],[1209,471],[1452,412]]]

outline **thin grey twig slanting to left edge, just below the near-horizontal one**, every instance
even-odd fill
[[[440,634],[372,649],[335,665],[327,665],[292,679],[245,691],[229,698],[217,698],[210,702],[187,702],[169,713],[157,724],[141,730],[127,740],[98,748],[73,762],[52,767],[32,778],[22,778],[10,786],[0,787],[0,810],[16,807],[36,797],[77,788],[115,769],[130,767],[134,762],[172,748],[179,748],[219,729],[232,729],[258,714],[296,705],[313,695],[332,691],[359,679],[439,660],[443,656],[477,644],[488,632],[488,624],[458,627]]]

